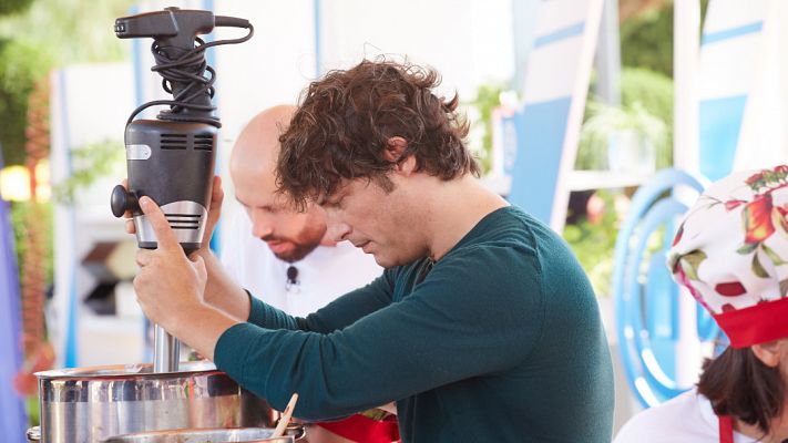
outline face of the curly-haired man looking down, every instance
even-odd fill
[[[344,181],[331,196],[321,199],[329,237],[348,240],[378,265],[390,268],[407,265],[428,254],[422,230],[408,210],[409,193],[395,184],[387,193],[375,181]]]

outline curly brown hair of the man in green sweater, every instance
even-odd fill
[[[331,196],[342,179],[368,178],[386,192],[387,174],[412,155],[417,171],[449,181],[479,165],[463,143],[468,123],[459,97],[438,97],[439,74],[429,68],[365,60],[331,71],[301,93],[301,104],[279,137],[279,190],[300,207]],[[385,150],[400,136],[407,147],[391,162]]]

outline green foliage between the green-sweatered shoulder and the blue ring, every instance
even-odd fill
[[[616,193],[597,190],[596,195],[605,203],[602,219],[592,224],[585,215],[580,215],[576,224],[564,227],[563,237],[589,275],[594,292],[604,297],[612,293],[618,215],[614,210]]]

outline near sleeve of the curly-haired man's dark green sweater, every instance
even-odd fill
[[[236,324],[219,337],[216,365],[278,409],[297,392],[296,415],[307,420],[511,368],[532,350],[544,317],[538,260],[524,254],[469,248],[444,257],[410,296],[359,318],[366,310],[351,292],[300,330]],[[389,284],[386,275],[371,285]]]

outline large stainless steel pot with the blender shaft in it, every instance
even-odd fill
[[[177,372],[151,364],[39,372],[41,441],[93,443],[143,431],[272,427],[277,412],[209,362]]]

